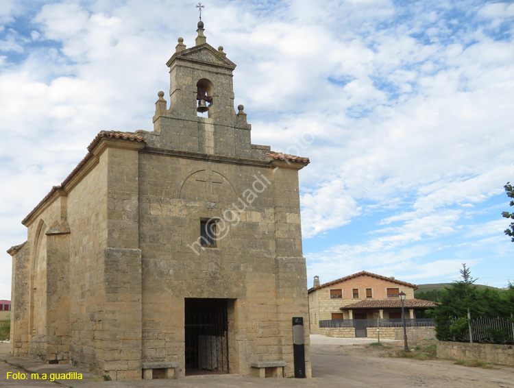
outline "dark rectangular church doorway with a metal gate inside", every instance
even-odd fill
[[[228,300],[186,298],[186,375],[228,373]]]

